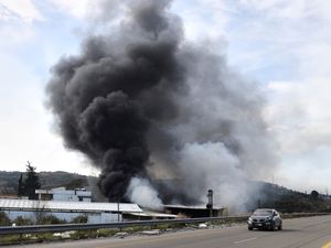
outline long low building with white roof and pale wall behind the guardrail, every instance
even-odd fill
[[[111,223],[125,220],[124,215],[139,214],[142,209],[129,203],[89,203],[0,198],[0,211],[13,220],[19,216],[36,220],[38,217],[53,215],[71,222],[84,215],[88,223]]]

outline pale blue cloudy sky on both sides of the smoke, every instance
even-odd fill
[[[23,171],[29,160],[38,171],[97,174],[64,149],[44,89],[61,56],[120,20],[113,0],[113,22],[100,26],[98,2],[0,0],[0,170]],[[279,145],[275,183],[331,191],[331,1],[178,0],[172,10],[189,41],[215,44],[264,91],[264,117]]]

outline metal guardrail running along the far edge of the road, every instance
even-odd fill
[[[292,217],[308,217],[317,215],[327,215],[320,213],[300,213],[300,214],[282,214],[284,218]],[[124,228],[132,226],[156,226],[161,224],[194,224],[209,222],[244,222],[249,215],[242,216],[226,216],[226,217],[207,217],[207,218],[182,218],[182,219],[162,219],[162,220],[136,220],[136,222],[120,222],[106,224],[61,224],[61,225],[35,225],[35,226],[8,226],[0,227],[0,235],[13,234],[39,234],[39,233],[62,233],[68,230],[90,230],[90,229],[108,229],[108,228]]]

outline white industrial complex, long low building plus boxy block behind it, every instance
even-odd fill
[[[35,190],[38,201],[28,198],[0,197],[0,211],[13,222],[19,216],[35,223],[47,215],[65,222],[77,216],[86,216],[87,223],[111,223],[135,219],[169,219],[177,215],[142,211],[137,204],[129,203],[95,203],[92,192],[85,188]]]

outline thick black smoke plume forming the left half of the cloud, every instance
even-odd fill
[[[89,37],[82,55],[54,66],[47,87],[65,144],[102,169],[99,187],[109,201],[125,200],[131,177],[147,177],[147,131],[153,120],[177,115],[171,91],[184,71],[166,8],[156,1],[132,9],[135,42]]]

